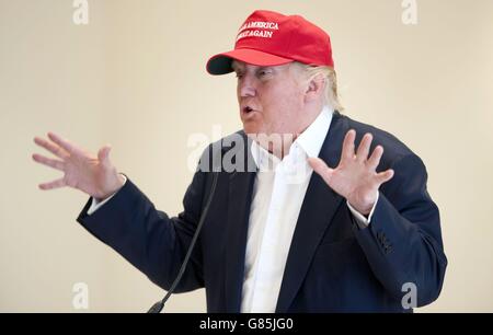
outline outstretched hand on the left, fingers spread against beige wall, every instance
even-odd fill
[[[110,146],[104,146],[94,157],[90,152],[76,147],[58,135],[48,132],[49,140],[34,138],[34,142],[45,148],[59,159],[50,159],[42,154],[33,154],[33,160],[64,172],[64,177],[39,184],[41,189],[72,187],[80,189],[98,200],[104,200],[116,193],[125,183],[110,161]]]

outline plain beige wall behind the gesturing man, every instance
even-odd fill
[[[443,293],[420,311],[493,312],[493,1],[0,0],[0,312],[71,312],[89,286],[90,312],[147,310],[161,290],[74,221],[87,197],[43,193],[59,176],[31,161],[48,130],[113,160],[161,209],[181,210],[191,181],[187,139],[241,127],[233,76],[208,56],[232,46],[254,9],[299,13],[332,35],[346,114],[389,130],[425,161],[449,267]],[[168,311],[205,311],[204,291]]]

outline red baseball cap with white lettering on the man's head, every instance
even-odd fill
[[[329,35],[300,15],[255,11],[240,27],[234,50],[213,56],[210,74],[232,72],[233,59],[254,66],[279,66],[299,61],[334,67]]]

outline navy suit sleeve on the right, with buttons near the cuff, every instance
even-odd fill
[[[400,300],[403,285],[415,285],[421,307],[438,298],[447,267],[439,211],[419,157],[403,157],[392,168],[394,177],[381,187],[371,223],[354,231],[382,286]]]

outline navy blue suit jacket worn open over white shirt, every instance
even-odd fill
[[[358,229],[345,199],[312,174],[276,312],[401,312],[406,311],[401,303],[404,284],[416,286],[417,305],[431,303],[442,290],[447,258],[423,162],[392,135],[335,113],[320,152],[330,166],[337,165],[349,129],[357,131],[356,145],[364,134],[374,135],[371,150],[377,145],[385,148],[377,171],[393,169],[394,177],[380,187],[370,226]],[[179,292],[205,287],[209,312],[240,311],[254,178],[255,172],[218,173],[209,212],[177,287]],[[184,196],[183,212],[170,218],[128,180],[91,216],[88,201],[78,221],[169,289],[210,186],[211,173],[197,171]]]

